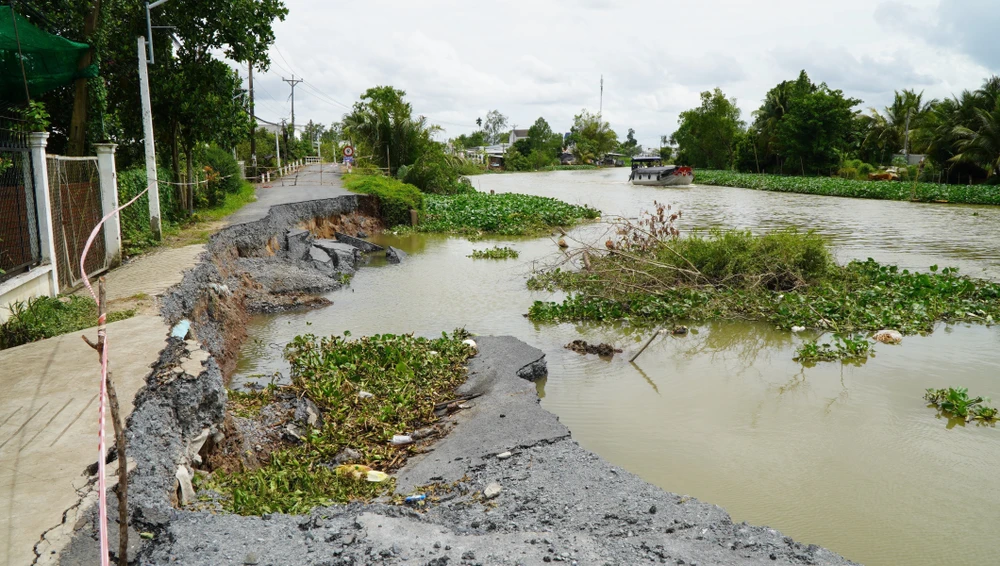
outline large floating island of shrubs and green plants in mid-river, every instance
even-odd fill
[[[563,288],[560,303],[535,302],[539,322],[751,320],[842,334],[931,332],[939,321],[1000,319],[1000,284],[955,269],[918,273],[872,259],[836,264],[809,233],[714,232],[648,249],[595,255],[592,271],[553,271],[533,288]]]

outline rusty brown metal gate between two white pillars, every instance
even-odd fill
[[[100,173],[96,157],[52,155],[48,168],[59,287],[71,289],[83,282],[80,256],[94,226],[104,218]],[[108,268],[103,226],[90,246],[84,267],[91,278]]]

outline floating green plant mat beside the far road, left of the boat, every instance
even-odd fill
[[[417,230],[457,234],[533,235],[554,226],[572,226],[599,211],[562,201],[516,193],[428,195],[426,213]]]

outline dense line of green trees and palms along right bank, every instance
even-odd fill
[[[703,92],[669,141],[678,163],[706,169],[856,178],[905,167],[898,156],[906,152],[926,156],[925,180],[997,179],[1000,77],[943,100],[904,89],[882,110],[861,104],[802,71],[768,91],[749,123],[721,89]]]

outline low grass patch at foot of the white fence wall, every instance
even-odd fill
[[[10,304],[10,318],[0,325],[0,350],[97,326],[97,303],[89,297],[37,297]],[[135,310],[112,311],[108,322],[135,316]]]

